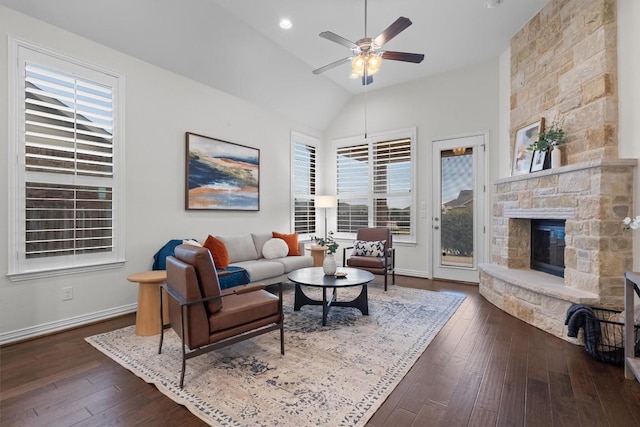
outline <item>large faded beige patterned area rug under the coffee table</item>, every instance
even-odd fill
[[[349,289],[339,290],[347,300]],[[369,315],[334,307],[293,311],[285,285],[285,355],[273,332],[187,361],[180,389],[178,336],[139,337],[126,327],[87,342],[214,426],[364,426],[464,297],[369,286]]]

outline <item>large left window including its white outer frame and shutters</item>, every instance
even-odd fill
[[[9,275],[122,262],[120,77],[12,40]]]

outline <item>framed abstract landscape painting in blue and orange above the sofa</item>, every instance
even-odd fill
[[[185,209],[260,210],[260,150],[186,132]]]

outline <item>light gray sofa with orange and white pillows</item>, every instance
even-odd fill
[[[304,243],[299,242],[301,256],[266,259],[262,247],[272,239],[271,233],[246,233],[231,236],[215,236],[224,243],[229,253],[229,266],[242,267],[249,273],[251,283],[267,285],[286,282],[287,274],[293,270],[313,267],[313,258],[305,254]]]

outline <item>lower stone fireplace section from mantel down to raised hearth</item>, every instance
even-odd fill
[[[496,181],[492,263],[480,265],[480,294],[502,310],[566,339],[575,303],[621,307],[632,242],[635,159],[598,160]],[[529,269],[531,220],[565,220],[564,278]]]

